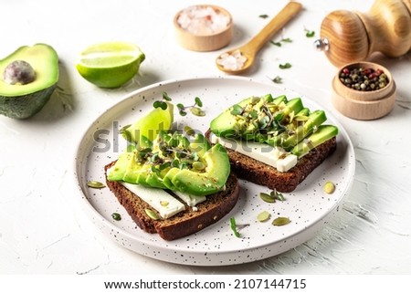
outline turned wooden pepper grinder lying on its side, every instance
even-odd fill
[[[377,51],[403,56],[411,49],[411,0],[376,0],[366,14],[334,11],[323,19],[320,35],[314,46],[337,67]]]

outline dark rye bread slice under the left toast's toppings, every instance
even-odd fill
[[[207,195],[207,200],[196,204],[196,209],[185,206],[185,211],[168,219],[153,220],[145,213],[145,209],[153,208],[140,197],[133,194],[121,183],[107,180],[107,170],[114,164],[104,167],[106,183],[115,194],[120,204],[126,209],[132,220],[145,232],[158,233],[165,240],[174,240],[195,234],[209,225],[215,224],[227,215],[237,204],[239,188],[237,176],[231,173],[227,179],[226,188],[216,194]]]

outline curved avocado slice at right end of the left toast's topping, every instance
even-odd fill
[[[208,195],[221,190],[230,173],[226,149],[219,143],[214,145],[203,157],[206,163],[205,173],[190,170],[175,172],[171,182],[174,187],[185,194]]]

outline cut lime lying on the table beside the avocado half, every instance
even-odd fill
[[[144,53],[134,44],[106,42],[82,51],[76,68],[100,88],[119,88],[137,74],[144,59]]]

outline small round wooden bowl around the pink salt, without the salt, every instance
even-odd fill
[[[227,26],[221,28],[220,30],[206,33],[193,33],[187,29],[184,29],[179,24],[179,17],[182,16],[186,9],[191,9],[194,7],[211,7],[217,14],[227,16]],[[193,51],[214,51],[219,48],[226,47],[231,42],[231,39],[233,38],[233,18],[230,13],[222,7],[216,5],[194,5],[180,10],[174,16],[174,29],[177,41],[182,47]]]

